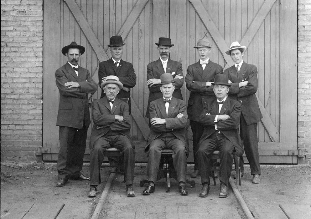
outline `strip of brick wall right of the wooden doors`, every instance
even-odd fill
[[[298,149],[311,165],[311,0],[298,0]]]

